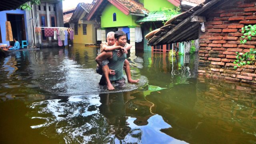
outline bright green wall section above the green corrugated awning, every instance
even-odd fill
[[[162,8],[175,8],[175,6],[168,2],[168,0],[144,0],[144,8],[151,12],[161,10]]]

